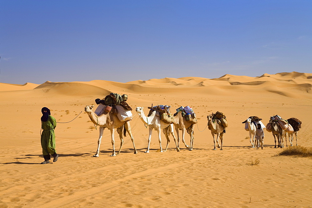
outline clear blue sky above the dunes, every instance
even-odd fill
[[[0,0],[0,82],[312,73],[311,0]]]

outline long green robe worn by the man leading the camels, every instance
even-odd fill
[[[54,129],[56,127],[55,118],[49,115],[48,121],[41,121],[41,129],[43,129],[41,134],[41,147],[42,154],[54,154],[55,150],[55,133]]]

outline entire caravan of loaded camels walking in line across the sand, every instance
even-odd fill
[[[126,103],[128,96],[127,95],[119,95],[116,93],[110,93],[104,99],[96,99],[95,102],[98,104],[97,108],[94,110],[94,105],[85,106],[85,112],[88,114],[90,120],[95,125],[100,127],[100,135],[98,139],[98,146],[95,155],[93,157],[99,157],[100,152],[100,144],[103,136],[104,129],[107,128],[110,130],[111,134],[111,143],[113,147],[113,152],[110,156],[116,156],[120,154],[122,149],[124,140],[123,136],[126,137],[126,132],[129,134],[133,148],[134,154],[137,154],[138,151],[134,145],[134,138],[131,133],[130,121],[132,120],[132,108]],[[149,153],[150,142],[152,137],[153,130],[157,131],[158,134],[158,142],[159,149],[157,152],[166,152],[168,149],[168,145],[170,142],[169,136],[172,135],[173,140],[175,142],[176,151],[180,151],[180,135],[179,130],[182,131],[182,142],[185,145],[185,148],[192,151],[194,146],[194,126],[197,124],[196,114],[193,111],[192,107],[179,107],[176,109],[176,112],[172,115],[170,111],[170,106],[168,105],[157,105],[148,107],[149,114],[146,116],[143,111],[144,107],[136,107],[135,111],[145,127],[149,127],[149,138],[148,145],[145,153]],[[296,145],[297,143],[297,135],[298,131],[301,128],[301,121],[296,118],[290,118],[287,120],[283,120],[280,116],[272,116],[270,118],[269,123],[265,126],[261,122],[261,118],[257,116],[250,116],[246,119],[245,130],[249,131],[250,143],[251,147],[259,149],[261,144],[261,149],[263,149],[263,139],[264,133],[263,129],[266,129],[269,132],[272,132],[275,139],[275,147],[276,148],[276,138],[278,141],[278,147],[284,147],[284,137],[286,139],[287,135],[289,137],[290,146],[292,146],[293,137],[296,136]],[[226,128],[228,127],[226,116],[217,111],[216,113],[212,113],[207,116],[207,126],[211,131],[213,137],[214,148],[216,150],[216,142],[217,147],[220,150],[223,150],[223,135],[226,133]],[[206,127],[207,127],[206,126]],[[120,147],[119,151],[116,154],[115,152],[115,129],[119,135],[120,139]],[[175,129],[177,133],[177,138],[174,135],[173,129]],[[161,145],[161,130],[167,139],[166,148],[163,150]],[[204,129],[205,130],[205,129]],[[185,131],[190,136],[190,145],[185,142]],[[276,138],[275,138],[276,136]],[[261,139],[262,138],[262,139]],[[220,143],[219,144],[219,139]],[[259,142],[260,141],[260,142]],[[287,146],[287,139],[286,139]]]

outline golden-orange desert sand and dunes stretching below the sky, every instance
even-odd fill
[[[262,118],[265,125],[274,115],[298,118],[302,121],[298,144],[310,147],[311,84],[312,74],[298,72],[128,83],[0,83],[0,207],[312,206],[311,158],[272,157],[281,150],[274,149],[272,133],[266,130],[264,149],[253,149],[241,123],[249,116]],[[110,131],[105,129],[100,157],[92,157],[99,128],[94,128],[84,107],[110,92],[128,95],[138,154],[133,154],[127,135],[121,154],[110,157]],[[157,152],[157,132],[153,131],[150,153],[144,153],[149,130],[135,108],[143,106],[147,115],[152,104],[170,105],[172,112],[180,106],[193,108],[198,121],[193,151],[183,144],[180,152],[175,151],[170,137],[168,151]],[[40,117],[44,106],[58,122],[78,117],[57,124],[60,157],[43,165]],[[212,135],[205,129],[207,115],[216,111],[227,116],[229,125],[222,151],[212,150]],[[185,139],[189,144],[189,135]],[[163,148],[165,140],[162,134]],[[116,133],[115,148],[119,149]],[[249,165],[256,159],[259,165]]]

